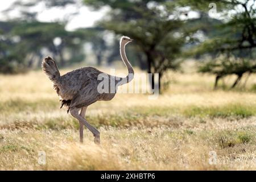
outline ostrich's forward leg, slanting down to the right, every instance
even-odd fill
[[[82,122],[92,133],[94,136],[94,143],[100,144],[100,131],[92,127],[86,119],[82,118],[81,115],[79,115],[79,109],[73,108],[70,111],[71,115],[76,118],[78,121]]]

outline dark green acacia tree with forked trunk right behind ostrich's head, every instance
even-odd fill
[[[176,16],[170,1],[103,1],[84,0],[85,5],[99,9],[109,6],[108,19],[100,26],[118,35],[134,39],[138,51],[146,57],[147,72],[159,73],[160,81],[167,69],[179,67],[177,56],[185,39],[183,22]],[[170,18],[172,16],[172,18]],[[151,82],[154,88],[154,77]]]

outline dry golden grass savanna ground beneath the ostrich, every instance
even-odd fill
[[[59,109],[41,71],[0,75],[0,169],[256,169],[256,76],[236,90],[213,90],[210,75],[168,76],[170,88],[157,100],[117,94],[88,107],[86,118],[101,131],[99,147],[88,129],[79,143],[79,123]],[[208,162],[210,151],[216,165]]]

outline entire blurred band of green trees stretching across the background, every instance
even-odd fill
[[[68,31],[75,13],[55,22],[40,22],[34,7],[44,2],[47,9],[72,5],[108,12],[93,27]],[[30,0],[15,1],[4,13],[19,10],[18,18],[0,22],[0,72],[19,73],[40,68],[46,55],[59,67],[84,62],[110,66],[119,61],[119,38],[130,36],[127,47],[131,64],[147,73],[180,69],[185,59],[195,59],[198,71],[218,80],[237,75],[234,88],[245,73],[256,71],[256,5],[253,0]],[[213,9],[212,9],[213,7]],[[90,18],[90,17],[84,17]],[[90,48],[90,52],[86,51]],[[94,55],[94,61],[90,60]],[[151,83],[152,87],[154,81]]]

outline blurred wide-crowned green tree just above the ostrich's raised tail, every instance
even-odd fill
[[[27,54],[39,56],[40,59],[42,58],[42,48],[47,48],[53,56],[59,57],[61,67],[67,65],[68,61],[79,61],[77,56],[80,57],[80,61],[83,60],[83,56],[81,56],[83,55],[82,41],[74,40],[81,40],[84,35],[77,31],[68,32],[63,24],[22,22],[13,28],[11,35],[19,37],[20,41],[17,43],[17,47],[24,49]],[[57,44],[54,43],[56,38],[59,39]],[[69,52],[72,55],[72,60],[65,59],[64,52]]]

